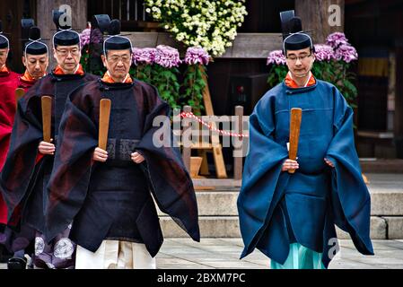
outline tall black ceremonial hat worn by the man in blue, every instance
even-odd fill
[[[302,30],[301,18],[296,17],[293,10],[281,12],[280,20],[283,30],[283,53],[286,50],[313,49],[311,36]]]

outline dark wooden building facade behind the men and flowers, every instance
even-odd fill
[[[51,11],[60,4],[73,9],[73,26],[83,30],[93,14],[108,13],[122,22],[136,47],[180,44],[156,28],[145,13],[143,0],[2,0],[0,19],[11,39],[10,65],[22,72],[21,19],[33,18],[50,39],[55,25]],[[329,5],[341,9],[341,24],[331,27]],[[239,35],[223,57],[208,65],[209,86],[217,115],[232,113],[234,85],[250,87],[245,112],[267,89],[268,52],[281,48],[278,13],[295,9],[314,41],[345,31],[359,54],[356,85],[357,148],[362,157],[403,158],[403,1],[402,0],[247,0],[248,16]],[[238,82],[237,82],[238,81]]]

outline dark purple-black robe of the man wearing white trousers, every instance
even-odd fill
[[[118,150],[128,151],[119,155],[116,164],[120,168],[127,167],[123,168],[124,170],[129,170],[136,166],[130,161],[130,152],[138,151],[145,157],[145,162],[139,165],[143,175],[140,177],[136,173],[138,170],[133,170],[133,176],[139,176],[137,184],[136,181],[131,184],[127,178],[122,177],[123,171],[117,171],[118,166],[115,163],[110,162],[110,172],[105,172],[109,169],[105,167],[108,162],[92,161],[92,152],[98,146],[99,109],[102,98],[112,100],[110,135],[118,137],[125,134],[123,137],[130,136],[129,141],[136,140],[136,148],[127,148],[127,142],[121,143],[126,139],[118,139]],[[119,108],[116,109],[117,107]],[[120,117],[117,115],[119,112],[122,113]],[[161,132],[161,126],[153,126],[153,119],[158,116],[169,119],[169,115],[170,107],[161,100],[156,89],[139,81],[132,84],[94,81],[83,85],[69,96],[58,133],[55,165],[48,184],[45,234],[48,240],[53,239],[58,232],[73,222],[75,231],[72,230],[72,233],[76,243],[94,252],[101,245],[102,239],[113,237],[114,234],[117,236],[118,230],[125,229],[121,222],[127,222],[127,230],[136,224],[140,239],[150,254],[155,256],[162,245],[162,234],[158,231],[160,226],[158,217],[153,212],[150,193],[163,213],[171,215],[192,239],[199,240],[195,191],[179,149],[172,145],[157,147],[153,144],[153,135]],[[133,133],[127,134],[127,128],[117,132],[121,126],[127,125],[128,118],[129,129],[132,129]],[[164,135],[171,135],[172,139],[170,126],[162,128],[167,128]],[[118,158],[118,155],[115,155]],[[113,156],[112,152],[109,156]],[[110,177],[114,172],[117,172],[117,178]],[[100,183],[105,177],[110,178],[110,181]],[[146,187],[142,178],[145,179]],[[113,186],[113,180],[119,180],[121,183]],[[135,214],[132,219],[127,220],[124,215],[118,215],[117,210],[120,204],[128,200],[127,193],[125,198],[122,197],[121,189],[128,191],[130,186],[134,189],[145,189],[149,197],[136,197],[138,201],[144,200],[137,211],[128,211],[129,205],[124,205],[127,217]],[[138,192],[140,195],[141,190]],[[144,193],[142,195],[145,196]],[[110,204],[105,196],[111,196],[110,200],[116,200],[116,204]],[[138,201],[133,204],[138,204]],[[110,228],[115,228],[114,234],[110,234]],[[118,239],[122,237],[124,235],[118,236]]]

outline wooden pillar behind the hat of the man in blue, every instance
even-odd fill
[[[330,5],[339,7],[339,26],[331,26],[337,10],[329,12]],[[344,31],[345,0],[295,0],[295,15],[302,19],[303,30],[313,30],[314,43],[325,43],[329,34]]]

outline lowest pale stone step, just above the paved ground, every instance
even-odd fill
[[[166,238],[187,238],[185,231],[168,216],[160,217],[162,233]],[[202,238],[240,238],[240,223],[237,216],[200,216],[200,236]],[[371,216],[372,239],[403,239],[403,216]],[[338,239],[350,239],[343,230],[337,228]]]

